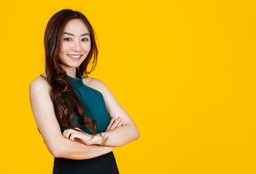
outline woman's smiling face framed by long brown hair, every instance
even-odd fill
[[[79,67],[91,50],[90,34],[80,19],[67,22],[60,42],[59,60],[64,69]]]

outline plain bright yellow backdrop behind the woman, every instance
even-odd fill
[[[0,173],[51,173],[28,86],[60,9],[96,31],[102,80],[141,137],[114,150],[120,173],[256,173],[256,1],[1,2]]]

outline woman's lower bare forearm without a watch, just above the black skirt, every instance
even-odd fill
[[[114,147],[80,144],[67,138],[62,138],[57,154],[54,157],[62,157],[67,159],[90,159],[99,157],[102,154],[112,152]]]

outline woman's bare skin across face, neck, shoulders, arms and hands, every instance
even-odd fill
[[[59,59],[62,68],[67,75],[78,78],[76,67],[86,59],[91,49],[91,41],[86,25],[80,19],[67,22],[64,31],[70,34],[63,34],[59,51]],[[86,34],[87,33],[87,34]],[[80,54],[80,59],[72,59],[69,54]],[[43,74],[46,77],[46,72]],[[102,138],[97,133],[94,138],[85,132],[67,129],[63,133],[55,116],[54,104],[49,95],[51,86],[43,77],[38,77],[30,83],[30,105],[38,129],[44,139],[49,152],[54,157],[68,159],[89,159],[102,154],[112,152],[116,146],[123,146],[139,138],[139,130],[135,123],[125,112],[125,109],[117,102],[110,89],[96,78],[83,78],[86,86],[100,91],[104,97],[107,113],[110,115],[110,123],[105,131],[109,138],[105,146]]]

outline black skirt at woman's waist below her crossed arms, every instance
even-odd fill
[[[53,174],[118,174],[113,152],[91,159],[54,157]]]

